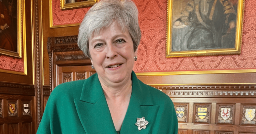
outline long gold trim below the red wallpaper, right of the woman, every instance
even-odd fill
[[[136,72],[137,76],[163,76],[183,74],[219,74],[219,73],[255,73],[256,69],[243,70],[212,70],[212,71],[177,71],[177,72]]]

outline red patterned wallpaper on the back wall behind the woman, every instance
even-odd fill
[[[80,23],[89,8],[61,11],[52,0],[53,25]],[[256,0],[245,0],[240,55],[166,58],[167,0],[134,0],[139,10],[142,39],[135,72],[256,69]]]

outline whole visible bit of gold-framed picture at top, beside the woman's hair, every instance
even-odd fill
[[[98,0],[60,0],[60,9],[74,9],[93,6]]]

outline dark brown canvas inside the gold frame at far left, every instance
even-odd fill
[[[17,52],[17,0],[0,0],[0,49]]]

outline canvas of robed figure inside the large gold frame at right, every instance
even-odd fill
[[[187,1],[173,21],[172,51],[234,48],[236,12],[237,0]]]

